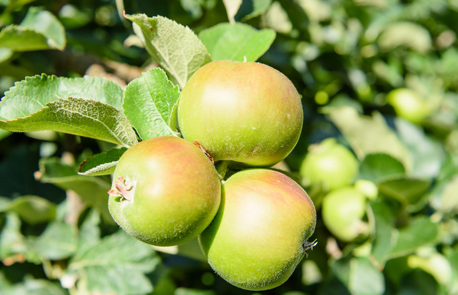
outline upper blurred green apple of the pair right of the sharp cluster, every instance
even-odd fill
[[[299,173],[305,186],[322,185],[324,190],[333,190],[351,184],[358,168],[351,151],[334,138],[327,138],[309,147]]]

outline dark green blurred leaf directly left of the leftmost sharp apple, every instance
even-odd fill
[[[64,190],[75,191],[83,200],[97,209],[106,222],[113,223],[108,211],[108,190],[111,183],[101,177],[78,175],[76,170],[60,163],[59,158],[41,159],[35,178],[40,182],[53,183]]]

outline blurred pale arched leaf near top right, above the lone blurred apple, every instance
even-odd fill
[[[386,27],[378,38],[385,51],[401,45],[425,53],[431,49],[431,35],[424,27],[409,21],[395,22]]]

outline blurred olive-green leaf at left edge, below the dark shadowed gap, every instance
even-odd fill
[[[55,217],[55,204],[38,196],[22,196],[3,203],[0,202],[0,212],[16,212],[22,220],[37,224]]]

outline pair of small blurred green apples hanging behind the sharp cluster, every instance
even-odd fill
[[[364,221],[366,203],[378,194],[375,183],[361,179],[354,182],[358,168],[353,153],[334,138],[310,145],[300,166],[302,184],[324,192],[320,200],[324,224],[344,242],[369,234],[369,225]]]

